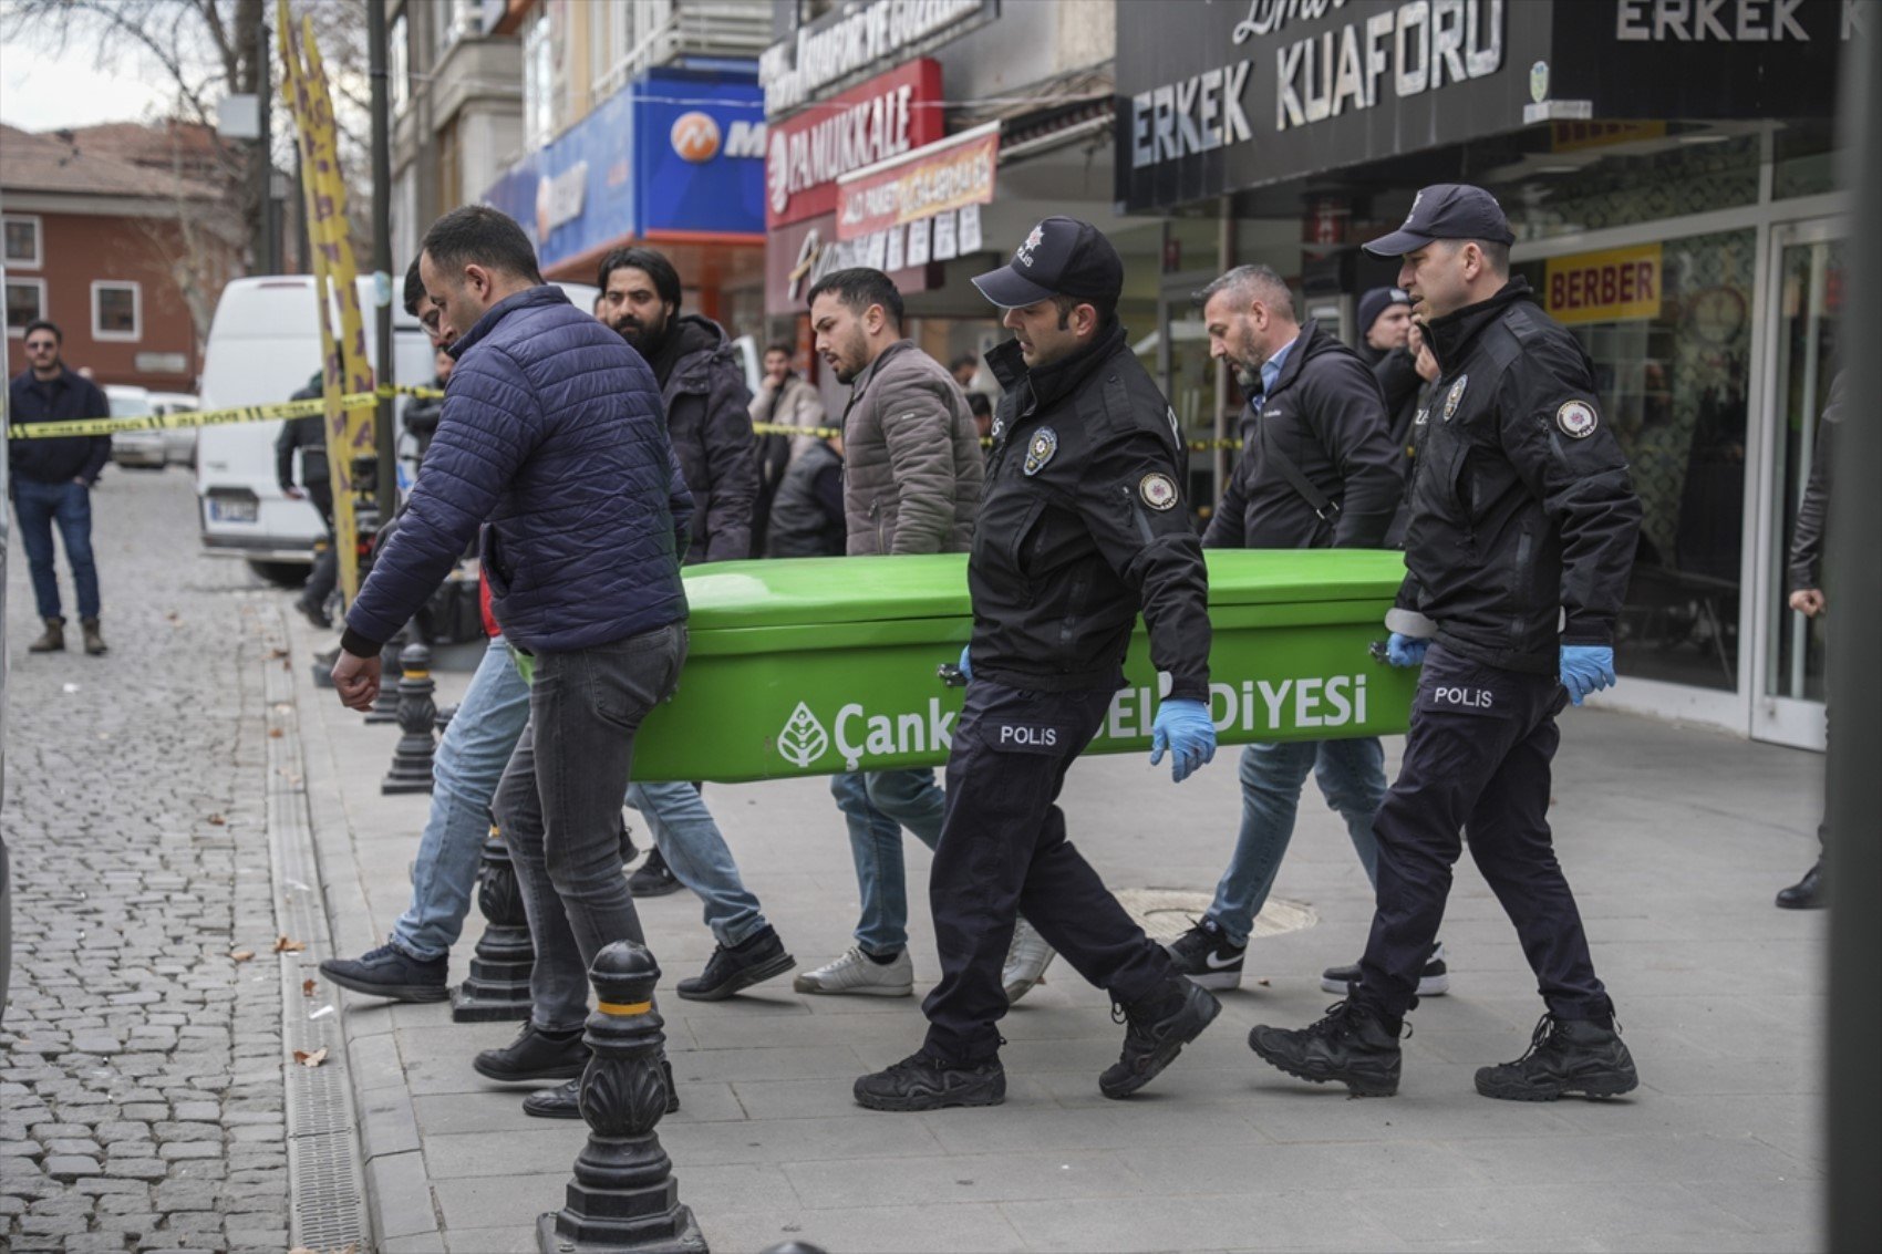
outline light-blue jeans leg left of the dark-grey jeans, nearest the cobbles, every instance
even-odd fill
[[[463,934],[489,832],[489,798],[529,721],[529,685],[510,646],[493,636],[431,763],[431,815],[418,838],[412,904],[391,924],[391,945],[442,958]]]

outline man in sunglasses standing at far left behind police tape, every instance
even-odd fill
[[[90,378],[68,371],[58,350],[64,335],[45,318],[26,324],[26,369],[8,388],[8,422],[72,422],[109,418],[111,403]],[[45,633],[26,646],[28,653],[56,653],[66,648],[66,618],[58,604],[58,571],[53,565],[53,523],[66,542],[72,584],[79,593],[79,625],[85,651],[104,653],[98,631],[98,563],[92,561],[92,488],[111,459],[109,435],[70,435],[49,441],[8,441],[8,467],[13,473],[13,514],[19,540],[26,546],[32,571],[32,597],[40,606]]]

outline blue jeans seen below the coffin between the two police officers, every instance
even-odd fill
[[[1385,749],[1378,738],[1252,744],[1242,749],[1242,834],[1208,908],[1208,919],[1236,945],[1248,943],[1255,915],[1274,887],[1308,772],[1327,804],[1346,819],[1366,879],[1378,883],[1380,842],[1372,819],[1385,802]]]

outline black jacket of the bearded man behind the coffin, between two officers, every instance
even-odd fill
[[[1316,514],[1282,456],[1338,508]],[[1274,388],[1242,410],[1242,459],[1203,548],[1372,548],[1404,495],[1396,463],[1372,371],[1308,322]]]

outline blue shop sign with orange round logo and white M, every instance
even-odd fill
[[[755,72],[651,73],[531,153],[484,200],[544,267],[619,239],[764,233],[764,92]]]

